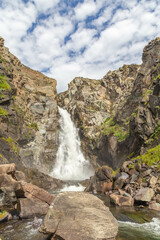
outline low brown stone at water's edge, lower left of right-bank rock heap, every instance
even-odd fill
[[[132,197],[126,197],[126,196],[118,195],[116,193],[112,193],[110,195],[110,199],[114,204],[118,206],[130,207],[134,205],[134,199]]]

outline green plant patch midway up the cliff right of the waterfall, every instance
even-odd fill
[[[106,121],[107,120],[107,121]],[[114,119],[106,119],[102,126],[102,132],[105,135],[113,134],[119,142],[124,141],[129,136],[129,131],[124,130]]]

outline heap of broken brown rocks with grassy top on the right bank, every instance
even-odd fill
[[[124,162],[117,171],[99,167],[85,191],[107,194],[118,206],[149,205],[159,211],[160,145]]]

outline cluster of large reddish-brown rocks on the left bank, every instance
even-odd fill
[[[47,213],[48,207],[55,198],[54,195],[31,183],[17,181],[14,164],[1,165],[0,169],[0,206],[9,205],[16,208],[21,218]]]

